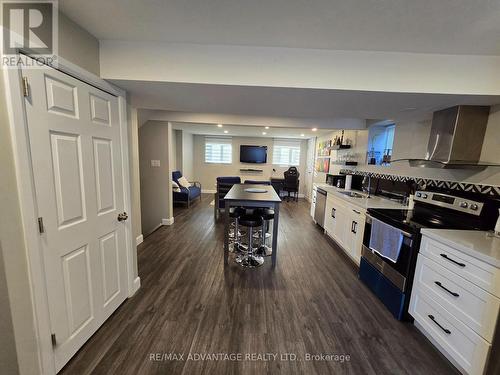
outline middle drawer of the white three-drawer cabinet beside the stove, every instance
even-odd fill
[[[500,300],[478,286],[418,255],[415,286],[488,342],[493,334]]]

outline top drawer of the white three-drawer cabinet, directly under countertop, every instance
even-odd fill
[[[425,236],[422,238],[420,253],[500,297],[500,269]]]

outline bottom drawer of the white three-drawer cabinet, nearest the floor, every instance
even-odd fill
[[[468,374],[482,374],[490,344],[424,293],[414,288],[411,295],[415,321]]]

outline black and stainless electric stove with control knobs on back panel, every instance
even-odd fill
[[[413,210],[368,209],[361,251],[359,278],[399,320],[412,320],[408,314],[408,304],[420,247],[420,230],[492,230],[500,207],[498,199],[477,193],[445,190],[417,191],[414,200]],[[400,232],[402,241],[396,262],[370,248],[373,219]],[[398,244],[393,243],[394,246]]]

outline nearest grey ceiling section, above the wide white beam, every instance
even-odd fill
[[[98,39],[500,55],[496,0],[61,0]]]

